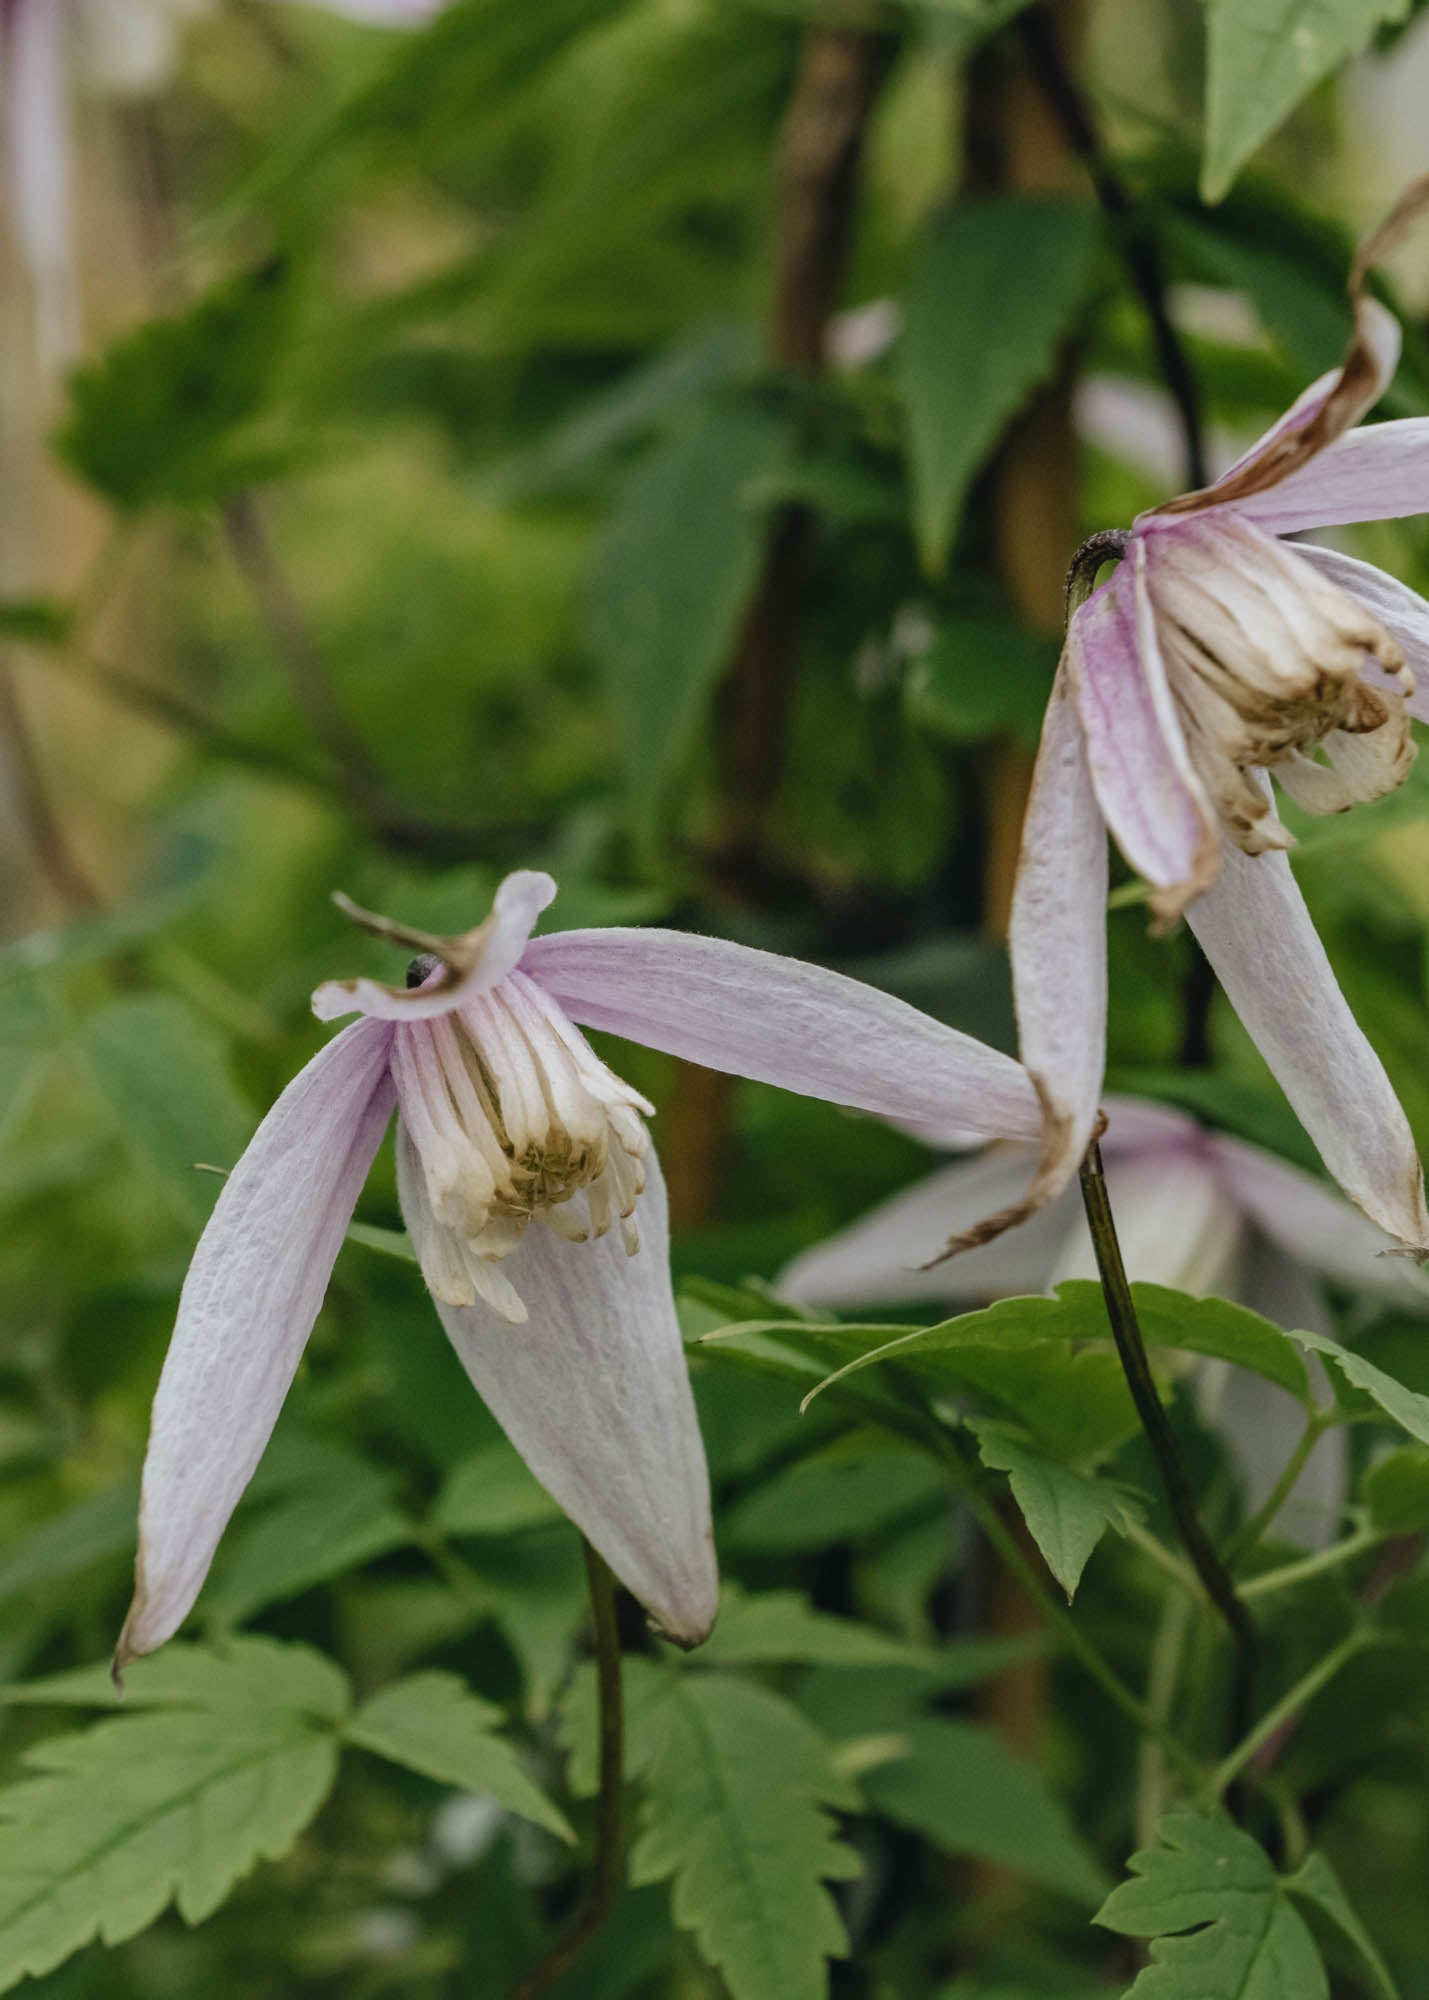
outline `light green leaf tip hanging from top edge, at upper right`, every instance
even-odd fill
[[[1207,0],[1205,166],[1219,202],[1301,98],[1409,0]]]

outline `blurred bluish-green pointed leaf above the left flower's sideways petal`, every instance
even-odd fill
[[[590,576],[584,630],[650,830],[729,662],[763,560],[755,490],[789,424],[751,398],[706,404],[628,474]]]

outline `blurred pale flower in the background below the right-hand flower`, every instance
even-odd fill
[[[1185,1112],[1143,1098],[1105,1100],[1101,1140],[1127,1274],[1197,1296],[1235,1298],[1285,1328],[1333,1332],[1321,1280],[1347,1292],[1429,1312],[1429,1278],[1387,1256],[1385,1236],[1319,1180],[1259,1146],[1209,1132]],[[963,1150],[967,1134],[921,1130]],[[993,1146],[941,1166],[851,1228],[795,1258],[779,1290],[835,1310],[937,1302],[971,1308],[1063,1278],[1095,1278],[1097,1262],[1077,1188],[1023,1228],[921,1268],[949,1222],[973,1224],[1027,1184],[1031,1146]],[[1305,1422],[1299,1404],[1243,1370],[1201,1364],[1207,1414],[1227,1438],[1251,1512],[1271,1492]],[[1343,1496],[1343,1434],[1315,1446],[1295,1486],[1289,1532],[1319,1544],[1335,1530]]]

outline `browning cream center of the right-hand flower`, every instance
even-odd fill
[[[1291,546],[1235,516],[1179,520],[1147,538],[1147,582],[1191,762],[1247,854],[1291,844],[1255,766],[1307,812],[1403,782],[1403,648]]]

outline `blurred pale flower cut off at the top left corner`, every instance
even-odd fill
[[[156,90],[186,20],[212,0],[0,0],[0,128],[10,222],[30,272],[40,354],[74,356],[80,334],[72,218],[72,88]],[[418,26],[444,0],[308,0],[376,26]]]

